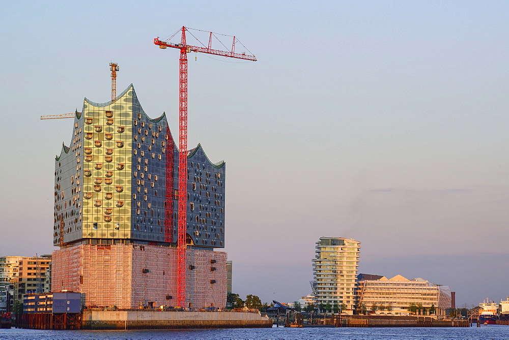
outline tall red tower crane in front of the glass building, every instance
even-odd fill
[[[213,32],[209,32],[209,45],[208,47],[197,47],[187,45],[186,43],[186,31],[189,28],[182,26],[179,31],[182,31],[182,38],[180,44],[173,44],[167,41],[159,40],[159,37],[154,39],[154,44],[159,45],[159,48],[178,48],[180,49],[180,61],[179,61],[179,221],[178,221],[178,241],[177,241],[177,252],[178,252],[178,269],[177,269],[177,303],[179,306],[185,307],[186,303],[186,231],[187,231],[187,53],[189,52],[202,52],[214,55],[220,55],[231,58],[245,59],[251,61],[257,61],[254,55],[248,55],[245,53],[235,53],[235,44],[239,42],[236,37],[233,37],[233,44],[231,51],[220,51],[212,49],[212,36],[216,37]],[[177,31],[177,33],[179,32]],[[173,38],[177,33],[175,33]],[[168,39],[168,40],[169,40]],[[223,45],[224,46],[224,45]],[[166,157],[172,151],[168,149]],[[171,162],[173,163],[173,162]],[[168,164],[168,162],[166,162]],[[166,173],[168,171],[166,170]],[[168,190],[172,192],[173,181],[166,179],[166,197],[169,195]],[[171,185],[171,187],[168,187]],[[167,205],[170,203],[167,202]],[[168,220],[166,214],[165,220]],[[166,225],[166,223],[165,223]]]

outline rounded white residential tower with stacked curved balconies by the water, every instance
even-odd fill
[[[343,305],[344,313],[353,314],[360,242],[350,238],[320,237],[315,248],[312,287],[316,304],[322,308],[328,304]]]

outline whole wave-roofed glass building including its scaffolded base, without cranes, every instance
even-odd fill
[[[179,150],[166,115],[150,118],[130,85],[84,100],[55,159],[51,289],[86,306],[175,306]],[[186,302],[224,307],[225,163],[187,151]]]

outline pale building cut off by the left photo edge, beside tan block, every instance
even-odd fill
[[[13,305],[13,280],[18,278],[19,261],[27,259],[26,256],[0,257],[0,312],[9,312]]]

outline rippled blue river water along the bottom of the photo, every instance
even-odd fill
[[[0,339],[509,339],[509,326],[470,328],[0,329]]]

